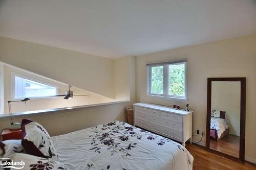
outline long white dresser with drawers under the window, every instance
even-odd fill
[[[167,138],[192,141],[193,111],[176,110],[172,107],[148,103],[134,104],[134,125]]]

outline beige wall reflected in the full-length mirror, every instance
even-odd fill
[[[226,112],[229,134],[240,136],[240,82],[211,82],[211,109]]]

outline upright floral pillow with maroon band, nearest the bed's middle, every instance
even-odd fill
[[[22,144],[27,154],[53,160],[58,158],[46,129],[32,120],[22,120]]]

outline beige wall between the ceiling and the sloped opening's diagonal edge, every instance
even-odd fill
[[[0,61],[114,99],[114,59],[0,37]]]

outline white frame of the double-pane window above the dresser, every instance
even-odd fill
[[[179,96],[179,95],[169,95],[168,94],[168,84],[169,84],[169,65],[177,65],[177,64],[185,64],[185,95],[184,96]],[[174,64],[160,64],[159,66],[163,66],[163,94],[158,94],[158,93],[151,93],[151,74],[152,74],[152,67],[153,66],[146,66],[146,71],[147,71],[147,82],[146,82],[146,94],[148,96],[158,96],[160,98],[165,98],[165,99],[174,99],[174,100],[182,100],[182,101],[187,101],[187,61],[185,62],[180,62],[180,63],[174,63]]]

